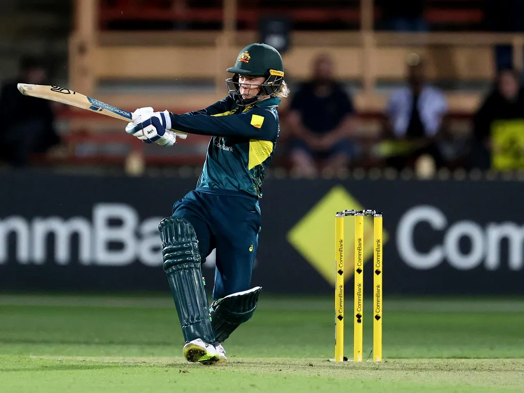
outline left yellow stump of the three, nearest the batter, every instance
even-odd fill
[[[335,217],[335,362],[344,361],[344,216]]]

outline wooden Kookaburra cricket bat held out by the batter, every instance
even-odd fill
[[[131,112],[124,111],[123,109],[117,108],[116,106],[95,100],[75,91],[61,88],[60,86],[18,83],[17,87],[20,93],[31,97],[37,97],[44,100],[56,101],[66,105],[76,106],[77,108],[94,111],[102,115],[114,117],[115,119],[125,120],[128,123],[133,120]],[[185,139],[188,137],[187,133],[181,132],[179,130],[172,129],[171,131],[177,134],[178,138]]]

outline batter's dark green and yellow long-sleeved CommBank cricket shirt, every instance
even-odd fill
[[[197,191],[262,197],[280,132],[280,101],[271,97],[239,107],[228,96],[201,111],[170,113],[172,129],[211,136]]]

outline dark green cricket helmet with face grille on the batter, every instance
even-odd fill
[[[226,79],[227,92],[239,106],[255,103],[260,97],[269,97],[275,93],[284,79],[284,63],[278,50],[265,43],[252,43],[238,54],[235,67],[228,68],[227,72],[233,77]],[[257,86],[256,94],[240,94],[238,78],[240,75],[249,77],[265,77],[265,81]]]

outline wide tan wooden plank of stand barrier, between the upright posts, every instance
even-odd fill
[[[283,60],[288,78],[303,80],[310,77],[315,57],[326,53],[333,59],[337,78],[358,81],[363,74],[363,52],[359,47],[293,47],[283,55]],[[489,81],[494,77],[494,56],[490,47],[386,47],[376,48],[371,53],[373,78],[404,79],[405,59],[411,52],[419,53],[427,60],[430,80]],[[237,54],[238,48],[228,47],[223,56],[230,59],[232,66]],[[217,71],[216,57],[217,48],[214,46],[98,47],[93,52],[92,69],[95,80],[213,80]]]

